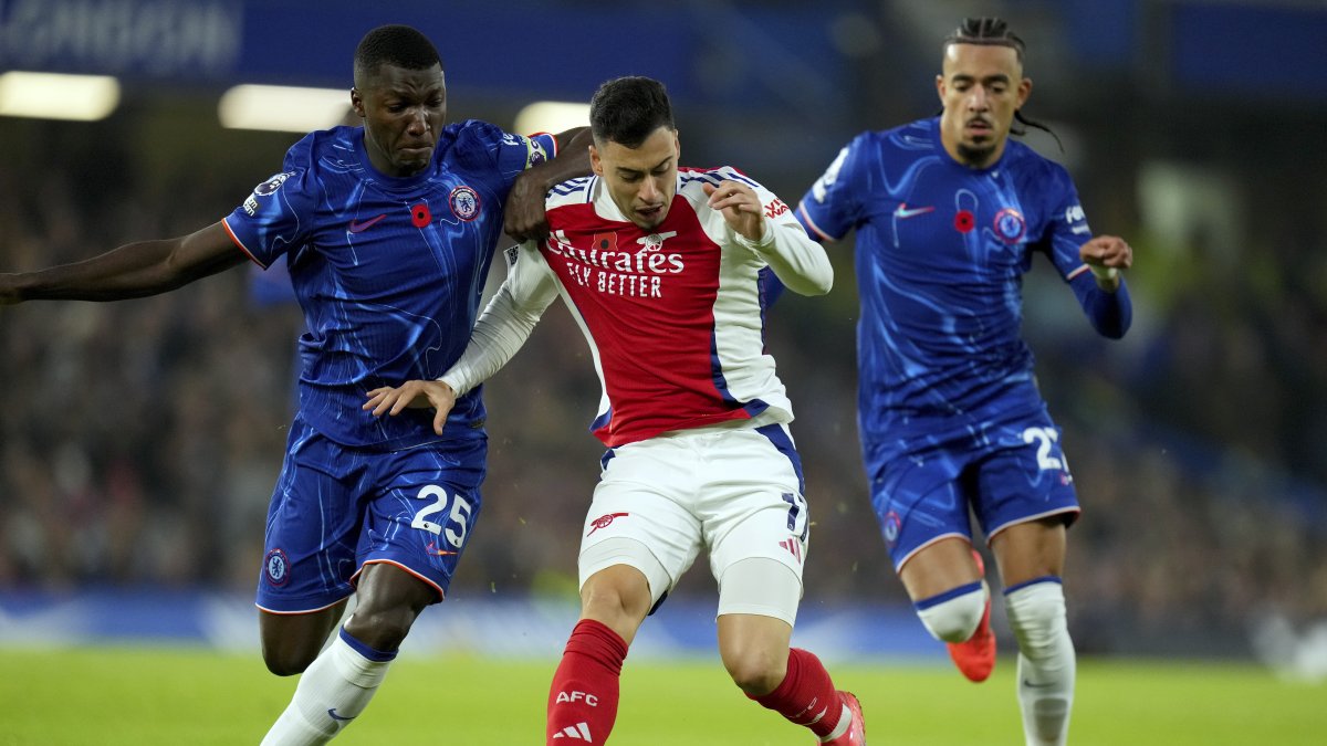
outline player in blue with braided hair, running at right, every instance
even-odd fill
[[[1119,338],[1132,251],[1092,238],[1066,170],[1009,139],[1031,123],[1019,109],[1032,81],[1003,21],[965,20],[936,89],[938,117],[857,135],[798,218],[824,242],[857,231],[859,422],[894,569],[926,629],[983,681],[995,637],[975,514],[1018,640],[1027,743],[1064,743],[1075,654],[1062,573],[1079,504],[1020,338],[1022,275],[1046,255],[1096,332]]]

